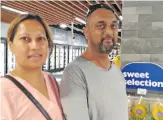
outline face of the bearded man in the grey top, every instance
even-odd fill
[[[110,53],[117,41],[118,22],[112,11],[99,8],[88,17],[84,29],[88,46],[100,53]]]

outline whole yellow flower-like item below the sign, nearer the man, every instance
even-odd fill
[[[136,102],[132,106],[132,115],[138,119],[144,119],[147,115],[147,105],[144,102]]]

